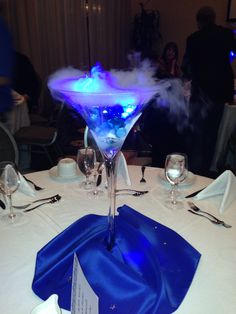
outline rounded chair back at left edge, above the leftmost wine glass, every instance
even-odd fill
[[[0,161],[12,161],[18,165],[19,152],[10,131],[0,122]]]

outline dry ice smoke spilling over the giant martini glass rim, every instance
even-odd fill
[[[61,89],[70,89],[82,93],[124,93],[124,91],[155,90],[151,105],[154,108],[168,108],[169,118],[176,122],[178,130],[188,125],[189,101],[185,86],[180,79],[155,78],[156,68],[148,60],[144,60],[136,68],[128,71],[103,71],[97,64],[90,73],[72,67],[61,69],[49,77],[48,86],[54,98],[60,98]],[[68,85],[65,83],[68,80]],[[71,81],[75,82],[71,84]],[[60,85],[63,82],[63,85]],[[102,102],[101,102],[102,103]]]

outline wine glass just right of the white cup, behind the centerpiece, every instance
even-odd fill
[[[80,184],[80,187],[84,190],[90,190],[94,186],[94,182],[89,179],[93,172],[96,163],[95,150],[86,147],[78,150],[77,153],[77,164],[80,171],[85,175],[86,180]]]

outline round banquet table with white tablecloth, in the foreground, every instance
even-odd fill
[[[144,184],[139,182],[140,167],[129,166],[128,169],[131,187],[149,190],[149,193],[140,197],[117,196],[117,206],[126,204],[171,228],[202,254],[190,289],[175,313],[235,314],[236,202],[222,215],[211,199],[197,202],[203,210],[233,226],[230,229],[219,227],[189,213],[186,199],[182,209],[165,207],[164,199],[169,186],[163,179],[163,169],[147,167],[147,183]],[[32,291],[31,284],[36,254],[48,241],[84,215],[106,215],[108,212],[106,195],[97,200],[88,199],[87,192],[79,188],[81,177],[66,181],[50,177],[48,171],[30,173],[27,177],[45,189],[34,197],[16,192],[13,195],[14,204],[25,204],[57,193],[62,199],[25,214],[28,220],[25,224],[9,227],[0,224],[0,313],[4,314],[27,314],[42,302]],[[191,180],[180,186],[180,191],[185,196],[207,186],[211,181],[192,175]],[[121,178],[117,188],[127,188]],[[0,215],[3,214],[4,211],[0,209]],[[69,312],[63,310],[62,313]]]

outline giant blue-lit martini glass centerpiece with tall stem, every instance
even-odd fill
[[[111,249],[115,241],[117,156],[141,111],[157,93],[157,87],[120,87],[99,66],[90,75],[80,77],[59,73],[51,77],[48,86],[54,98],[66,101],[82,115],[104,157],[110,200],[106,241]]]

